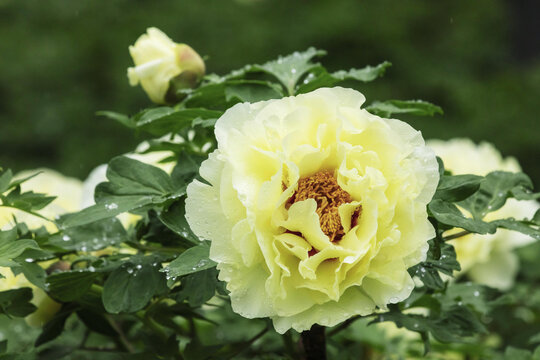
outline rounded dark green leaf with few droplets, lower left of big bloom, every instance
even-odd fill
[[[136,312],[154,295],[166,290],[165,276],[157,265],[153,257],[134,257],[114,270],[103,286],[102,300],[107,312]]]

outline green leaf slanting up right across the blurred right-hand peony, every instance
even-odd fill
[[[458,205],[469,211],[475,219],[500,209],[517,189],[532,189],[531,179],[523,173],[494,171],[486,175],[480,189]]]

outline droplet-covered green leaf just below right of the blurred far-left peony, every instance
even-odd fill
[[[49,238],[49,243],[66,250],[95,251],[127,240],[126,230],[116,218],[72,227]]]

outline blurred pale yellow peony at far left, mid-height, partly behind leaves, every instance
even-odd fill
[[[16,174],[15,179],[30,176],[38,171],[41,171],[39,175],[21,184],[21,190],[22,192],[34,191],[57,197],[52,203],[37,211],[40,215],[53,220],[58,215],[81,209],[82,182],[78,179],[65,177],[50,169],[23,171]],[[56,231],[56,226],[50,221],[3,206],[0,206],[0,229],[11,228],[14,225],[13,216],[18,222],[26,223],[31,229],[45,226],[48,231]]]

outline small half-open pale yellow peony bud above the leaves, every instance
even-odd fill
[[[179,75],[182,87],[193,87],[204,75],[204,61],[186,44],[177,44],[157,28],[149,28],[129,47],[135,67],[128,69],[131,86],[141,84],[150,99],[165,103],[169,81]]]

